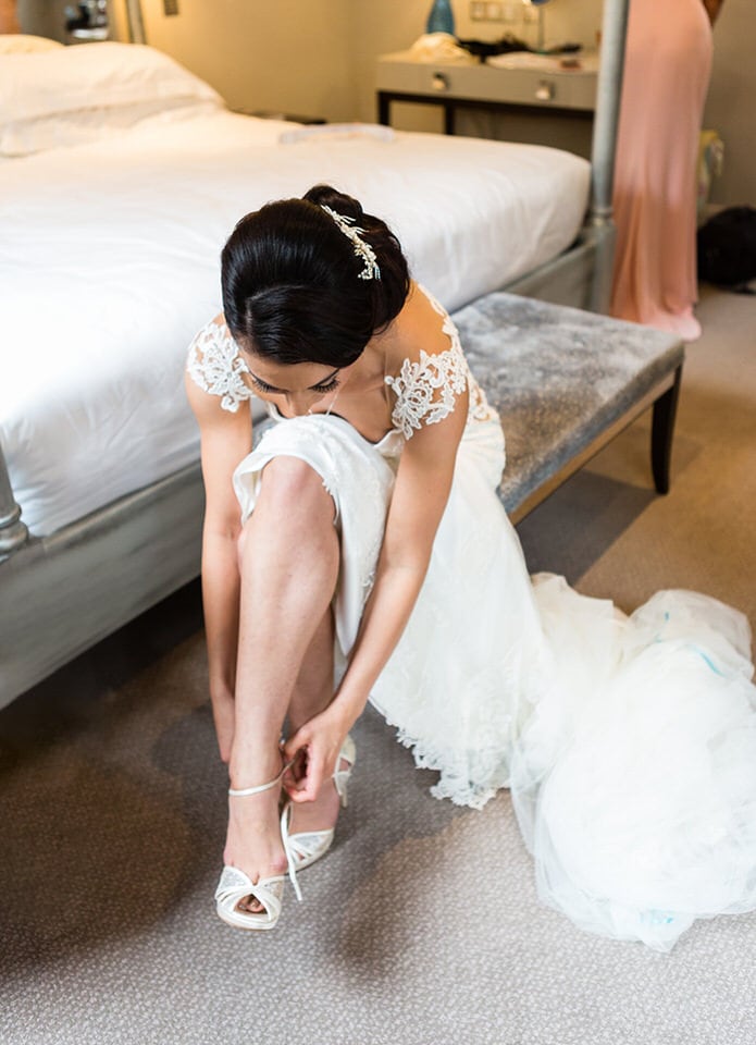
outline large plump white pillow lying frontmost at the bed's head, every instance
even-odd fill
[[[79,145],[158,112],[221,96],[146,45],[107,40],[0,59],[0,153]]]

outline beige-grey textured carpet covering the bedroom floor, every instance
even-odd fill
[[[707,293],[673,488],[639,422],[520,527],[533,569],[630,608],[690,587],[756,619],[756,299]],[[214,915],[225,809],[191,586],[0,712],[3,1045],[753,1045],[756,915],[668,956],[536,899],[482,813],[372,712],[337,845],[268,936]]]

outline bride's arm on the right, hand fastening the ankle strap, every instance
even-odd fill
[[[449,351],[436,320],[436,352]],[[362,713],[373,684],[381,674],[410,617],[433,550],[433,542],[448,501],[457,448],[464,430],[468,391],[451,393],[450,411],[435,423],[422,422],[405,444],[386,519],[375,582],[365,604],[349,666],[329,708],[307,723],[286,745],[287,758],[305,748],[307,776],[293,798],[314,798],[321,783],[334,770],[346,734]],[[434,406],[439,392],[435,390]],[[425,421],[427,418],[425,418]]]

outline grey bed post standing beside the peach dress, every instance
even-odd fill
[[[615,181],[615,151],[622,94],[629,3],[630,0],[604,0],[596,118],[593,124],[591,148],[592,184],[588,219],[596,235],[596,273],[592,307],[597,312],[607,310],[611,294],[611,269],[615,257],[611,192]]]

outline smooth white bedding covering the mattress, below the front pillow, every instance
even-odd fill
[[[0,162],[0,440],[32,532],[197,458],[186,349],[220,310],[225,238],[262,202],[317,182],[351,193],[449,309],[582,223],[590,168],[567,152],[327,127],[280,144],[290,130],[201,102]]]

